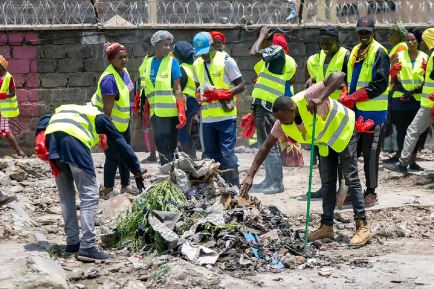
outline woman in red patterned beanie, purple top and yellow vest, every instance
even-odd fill
[[[111,42],[104,44],[104,51],[110,64],[99,78],[98,87],[91,103],[110,117],[119,133],[131,145],[130,130],[130,93],[134,83],[126,69],[128,56],[124,45]],[[118,195],[113,190],[116,171],[119,168],[121,177],[121,193],[137,193],[137,188],[130,186],[130,170],[121,159],[116,145],[106,136],[100,138],[100,147],[104,149],[104,189],[102,199],[109,199]]]

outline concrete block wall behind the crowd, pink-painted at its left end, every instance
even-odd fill
[[[0,54],[9,60],[9,72],[15,78],[21,115],[11,120],[11,129],[19,144],[27,152],[34,147],[34,130],[41,115],[53,113],[62,104],[85,104],[96,90],[98,78],[108,64],[103,52],[106,41],[117,41],[128,48],[128,71],[138,78],[138,67],[145,53],[141,46],[143,37],[155,29],[75,29],[43,31],[0,32]],[[169,29],[175,41],[192,41],[199,29]],[[226,34],[227,52],[237,61],[246,83],[246,92],[239,96],[238,117],[250,111],[252,82],[256,77],[253,66],[258,61],[248,57],[255,41],[256,31],[242,28],[222,29]],[[303,89],[304,63],[309,55],[318,51],[318,27],[294,27],[285,33],[289,54],[294,57],[299,70],[295,91]],[[378,29],[377,40],[387,44],[387,29]],[[340,38],[349,49],[357,43],[354,28],[341,28]],[[132,122],[135,149],[143,149],[140,121]],[[12,150],[0,138],[0,155]]]

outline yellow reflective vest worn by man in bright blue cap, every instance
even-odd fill
[[[224,64],[226,63],[227,59],[229,59],[229,56],[219,51],[216,51],[216,55],[213,57],[213,59],[211,59],[209,71],[216,89],[230,89],[233,87],[233,85],[225,84],[223,80]],[[208,76],[205,78],[205,62],[202,57],[199,57],[195,60],[193,63],[193,69],[196,76],[198,77],[199,84],[204,85],[205,83],[208,83],[211,85],[211,83],[208,81]],[[235,97],[233,97],[232,100],[235,102]],[[201,106],[201,117],[203,120],[208,119],[206,121],[207,123],[232,119],[233,117],[236,117],[236,106],[232,111],[225,112],[218,100],[213,101],[210,104],[203,103]]]

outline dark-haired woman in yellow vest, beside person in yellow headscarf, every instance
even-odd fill
[[[408,49],[399,52],[391,63],[390,77],[394,85],[391,90],[390,114],[392,124],[397,130],[398,153],[384,160],[385,162],[399,160],[407,129],[421,107],[422,86],[425,79],[423,66],[428,59],[428,55],[420,50],[421,42],[422,31],[418,28],[410,28],[406,35]],[[414,161],[418,147],[424,146],[427,135],[428,130],[419,137],[418,145],[413,150],[411,169],[421,170],[421,167]]]

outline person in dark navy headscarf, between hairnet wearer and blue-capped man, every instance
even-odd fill
[[[181,89],[186,97],[187,124],[178,130],[178,139],[182,150],[191,157],[196,158],[196,147],[190,135],[193,117],[199,111],[199,102],[196,100],[196,84],[193,78],[193,62],[195,61],[195,49],[187,41],[178,41],[173,47],[173,55],[181,66]]]

